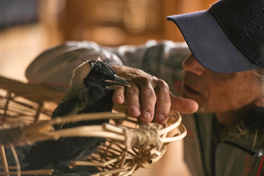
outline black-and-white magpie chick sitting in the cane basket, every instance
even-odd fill
[[[84,62],[73,72],[70,90],[53,111],[51,118],[78,113],[111,111],[114,88],[130,84],[118,77],[115,70],[100,58]],[[109,120],[93,120],[54,126],[55,130],[81,125],[100,125]],[[37,142],[25,156],[22,170],[39,170],[52,164],[65,173],[74,172],[68,164],[95,152],[104,143],[99,137],[66,137],[59,140]]]

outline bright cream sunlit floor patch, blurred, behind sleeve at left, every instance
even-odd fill
[[[50,31],[43,24],[31,24],[0,30],[0,74],[27,82],[27,66],[45,49],[58,43],[50,39]]]

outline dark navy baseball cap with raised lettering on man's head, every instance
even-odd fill
[[[205,68],[235,73],[264,67],[264,0],[220,0],[208,10],[167,17]]]

